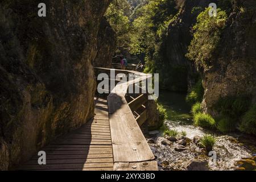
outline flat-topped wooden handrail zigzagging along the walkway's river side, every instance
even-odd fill
[[[116,85],[114,92],[110,93],[108,96],[114,170],[158,170],[155,156],[152,154],[147,140],[144,138],[138,122],[134,118],[133,111],[130,109],[125,99],[125,95],[130,85],[145,81],[150,76],[145,73],[128,70],[108,68],[95,69],[97,71],[108,73],[113,70],[115,73],[125,73],[126,75],[134,73],[138,75],[134,80]],[[142,96],[138,98],[137,101],[141,98]],[[140,103],[140,106],[141,105],[142,104]],[[144,120],[146,112],[147,111],[144,110],[143,113],[137,117],[139,122]]]

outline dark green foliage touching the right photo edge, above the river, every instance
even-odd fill
[[[247,134],[256,135],[256,104],[243,115],[239,129]]]

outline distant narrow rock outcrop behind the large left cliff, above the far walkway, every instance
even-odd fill
[[[94,67],[112,68],[112,57],[116,48],[117,36],[108,21],[103,18],[98,31],[98,52],[93,62]]]

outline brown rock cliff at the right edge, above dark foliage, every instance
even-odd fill
[[[256,103],[256,2],[234,1],[221,41],[203,70],[204,111],[226,96],[245,95]]]

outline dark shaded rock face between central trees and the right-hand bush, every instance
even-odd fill
[[[163,64],[160,64],[160,80],[164,89],[187,92],[193,83],[195,70],[185,54],[192,40],[191,29],[196,23],[196,17],[210,2],[216,1],[177,1],[181,6],[180,11],[168,27],[167,36],[160,45],[159,55],[162,58],[160,60],[163,60]]]

